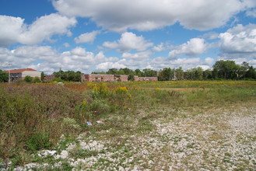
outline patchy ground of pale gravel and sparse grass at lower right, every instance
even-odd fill
[[[68,162],[72,170],[256,170],[255,104],[115,116],[110,120],[119,128],[92,129],[54,154],[56,162],[25,167],[58,168]]]

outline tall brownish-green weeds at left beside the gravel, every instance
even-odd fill
[[[83,122],[86,113],[76,115],[84,97],[79,92],[55,85],[0,86],[0,158],[12,158],[24,149],[33,151],[51,147],[61,134],[79,134],[77,124],[72,129],[61,127],[62,118]],[[66,124],[66,123],[65,123]],[[67,125],[67,124],[66,124]]]

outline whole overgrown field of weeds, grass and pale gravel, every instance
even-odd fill
[[[0,84],[0,170],[254,170],[256,82]]]

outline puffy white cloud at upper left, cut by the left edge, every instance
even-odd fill
[[[75,18],[54,13],[41,16],[29,26],[19,17],[0,16],[0,46],[13,43],[34,45],[43,40],[51,40],[54,34],[70,35],[68,28],[75,24]]]

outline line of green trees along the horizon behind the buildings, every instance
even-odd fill
[[[133,81],[134,76],[139,77],[158,77],[159,81],[170,80],[206,80],[206,79],[256,79],[256,68],[244,61],[241,65],[237,65],[235,61],[216,61],[211,69],[203,70],[201,67],[191,68],[184,71],[180,68],[163,68],[159,72],[146,68],[142,71],[129,68],[110,68],[107,72],[92,72],[92,74],[103,75],[129,75],[128,80]],[[68,71],[54,72],[55,81],[80,82],[82,72]],[[41,79],[44,78],[42,72]],[[57,80],[58,79],[58,80]],[[0,70],[0,82],[8,82],[8,73]]]

